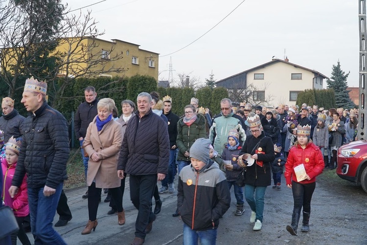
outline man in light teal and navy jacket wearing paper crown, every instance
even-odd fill
[[[229,98],[221,100],[221,111],[220,114],[214,117],[209,131],[210,142],[214,150],[220,154],[228,143],[228,133],[231,129],[238,131],[242,144],[246,139],[245,122],[240,116],[233,113],[232,101]]]

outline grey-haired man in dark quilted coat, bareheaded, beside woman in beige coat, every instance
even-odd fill
[[[152,112],[152,97],[143,92],[137,100],[137,117],[127,124],[117,173],[121,179],[124,172],[130,174],[130,198],[138,209],[132,244],[141,245],[156,219],[150,208],[152,196],[157,180],[163,180],[167,174],[170,147],[167,123]]]

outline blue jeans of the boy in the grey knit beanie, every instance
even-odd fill
[[[197,231],[184,223],[184,245],[197,245],[199,239],[201,245],[215,245],[217,229]]]

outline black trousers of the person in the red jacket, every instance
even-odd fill
[[[311,198],[314,194],[316,182],[309,184],[300,184],[292,181],[292,193],[294,200],[294,208],[301,210],[303,206],[303,212],[310,213],[311,211]]]

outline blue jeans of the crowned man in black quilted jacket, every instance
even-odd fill
[[[52,227],[53,217],[63,190],[64,183],[56,187],[55,194],[44,196],[44,187],[28,188],[29,212],[31,217],[31,229],[34,236],[34,244],[66,245]]]

